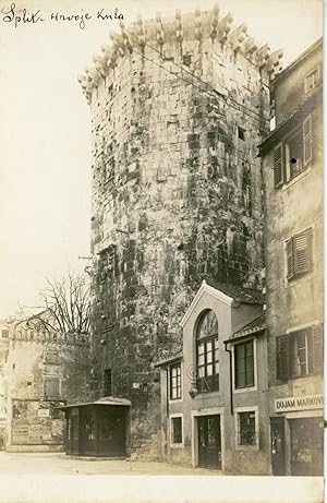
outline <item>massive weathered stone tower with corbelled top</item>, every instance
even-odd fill
[[[132,448],[156,432],[153,362],[179,348],[201,282],[261,287],[257,145],[281,53],[232,21],[215,7],[121,23],[80,77],[92,109],[94,391],[132,400]]]

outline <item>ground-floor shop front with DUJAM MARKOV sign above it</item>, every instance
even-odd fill
[[[322,395],[275,400],[275,416],[270,418],[274,475],[323,476],[323,407]]]

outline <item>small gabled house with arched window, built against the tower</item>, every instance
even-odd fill
[[[158,362],[161,459],[232,475],[268,474],[263,296],[204,282],[181,326],[182,352]]]

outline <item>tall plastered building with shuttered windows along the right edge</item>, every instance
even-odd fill
[[[323,475],[323,43],[276,79],[265,182],[271,468]]]

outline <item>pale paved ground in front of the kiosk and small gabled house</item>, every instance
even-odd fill
[[[62,453],[0,453],[0,475],[208,475],[219,471],[192,469],[159,462],[76,458]]]

